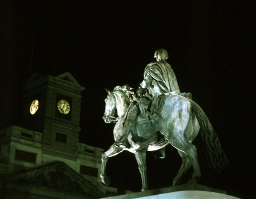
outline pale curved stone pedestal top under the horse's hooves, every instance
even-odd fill
[[[198,184],[184,184],[160,189],[129,193],[120,196],[111,196],[104,199],[239,199],[229,196],[224,190],[218,190]]]

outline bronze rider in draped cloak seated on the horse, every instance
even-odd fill
[[[144,117],[148,117],[149,115],[149,117],[153,119],[157,117],[155,113],[157,112],[160,95],[170,93],[180,94],[180,89],[177,84],[176,76],[171,66],[166,61],[166,59],[168,59],[167,51],[165,49],[156,50],[156,52],[154,53],[154,58],[156,58],[157,61],[151,62],[145,67],[144,79],[138,89],[139,95],[142,95],[145,91],[147,91],[148,93],[146,94],[146,96],[152,101],[150,110],[148,110],[147,108],[145,108],[145,110],[142,110],[141,107],[143,106],[141,106],[141,104],[143,105],[143,103],[148,103],[145,103],[144,98],[138,99],[141,113]],[[129,113],[127,117],[129,117]],[[129,119],[129,121],[134,120],[132,118]],[[129,147],[130,144],[128,143],[127,137],[130,132],[131,130],[129,128],[124,128],[122,138],[116,141],[116,146],[123,148]]]

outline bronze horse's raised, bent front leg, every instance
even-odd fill
[[[106,176],[106,165],[108,162],[108,158],[112,156],[116,156],[118,153],[121,153],[122,151],[123,151],[122,148],[116,147],[116,145],[113,144],[105,153],[102,154],[102,166],[100,170],[100,178],[103,184],[109,185],[111,182],[110,177]]]

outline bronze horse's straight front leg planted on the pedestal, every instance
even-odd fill
[[[146,151],[136,151],[135,158],[136,158],[138,166],[139,166],[141,180],[142,180],[141,191],[148,190]]]

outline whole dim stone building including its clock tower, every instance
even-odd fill
[[[66,72],[56,77],[35,73],[23,89],[22,127],[0,131],[1,197],[115,195],[116,188],[99,178],[103,149],[79,143],[85,88]]]

